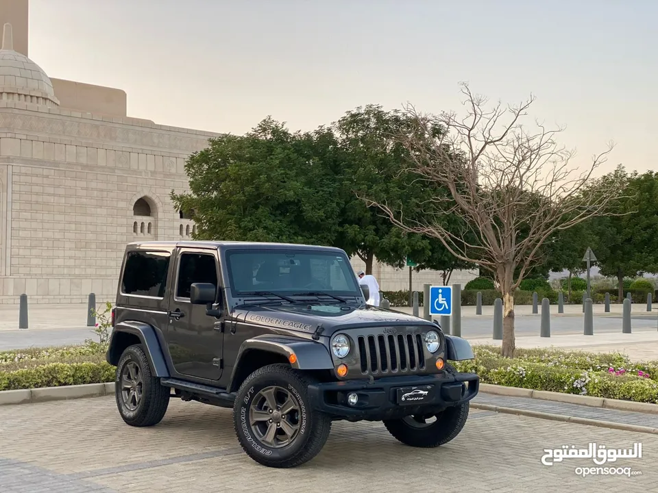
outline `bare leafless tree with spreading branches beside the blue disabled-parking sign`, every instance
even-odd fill
[[[414,127],[398,138],[411,155],[410,170],[437,191],[424,204],[423,217],[409,218],[395,204],[362,198],[404,231],[438,238],[455,257],[493,274],[504,303],[502,354],[512,357],[514,292],[539,260],[544,242],[592,216],[612,214],[609,205],[619,196],[619,184],[593,174],[613,146],[594,156],[584,173],[574,173],[573,153],[555,141],[561,129],[521,125],[533,97],[485,110],[485,98],[466,84],[462,92],[465,118],[406,108]],[[446,226],[446,214],[463,219],[461,230]]]

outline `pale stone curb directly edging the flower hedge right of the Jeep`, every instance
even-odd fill
[[[491,383],[480,383],[480,392],[509,397],[525,397],[539,401],[553,401],[566,404],[577,404],[601,409],[614,409],[616,411],[641,412],[645,414],[658,414],[658,404],[622,401],[620,399],[605,399],[603,397],[582,396],[578,394],[563,394],[549,392],[548,390],[533,390],[518,387],[504,387]]]

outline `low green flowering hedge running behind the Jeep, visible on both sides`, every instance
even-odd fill
[[[453,362],[483,383],[658,403],[658,361],[633,363],[620,353],[517,349],[504,358],[500,346],[474,346],[475,359]],[[0,352],[0,390],[114,381],[114,366],[89,346]],[[80,359],[88,359],[82,362]],[[57,361],[61,359],[61,361]]]

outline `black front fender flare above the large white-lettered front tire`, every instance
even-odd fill
[[[266,351],[285,357],[296,370],[333,370],[334,363],[328,349],[321,342],[295,338],[292,336],[256,336],[245,340],[240,346],[233,366],[231,384],[240,363],[249,351]],[[291,356],[295,355],[294,362]]]

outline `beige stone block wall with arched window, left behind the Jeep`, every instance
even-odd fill
[[[23,108],[0,102],[0,303],[114,299],[126,242],[191,236],[169,193],[186,190],[185,157],[216,134]],[[150,216],[134,216],[140,198]]]

